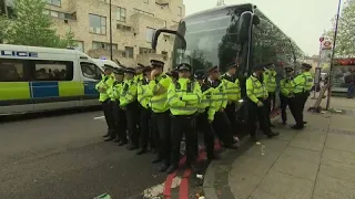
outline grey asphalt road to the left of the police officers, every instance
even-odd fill
[[[109,193],[143,198],[166,175],[136,156],[104,143],[101,112],[44,115],[0,123],[0,198],[81,199]],[[30,116],[32,117],[32,116]]]

